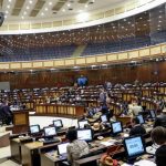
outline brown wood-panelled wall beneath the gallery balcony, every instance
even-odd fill
[[[83,70],[39,73],[1,73],[0,81],[9,81],[11,89],[66,86],[73,85],[83,74],[89,77],[89,84],[102,84],[105,81],[113,83],[133,83],[166,81],[166,62],[152,62],[138,66],[114,66],[111,69]]]

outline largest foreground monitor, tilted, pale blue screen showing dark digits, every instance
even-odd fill
[[[145,142],[142,136],[126,137],[123,144],[128,160],[146,153]]]

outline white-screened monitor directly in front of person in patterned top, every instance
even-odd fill
[[[92,129],[77,129],[76,131],[77,139],[80,141],[86,141],[86,142],[92,142],[93,141],[93,134]]]

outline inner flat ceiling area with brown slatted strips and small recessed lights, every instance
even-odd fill
[[[81,12],[113,8],[128,0],[0,0],[6,21],[64,19]],[[131,2],[135,0],[129,0]]]

